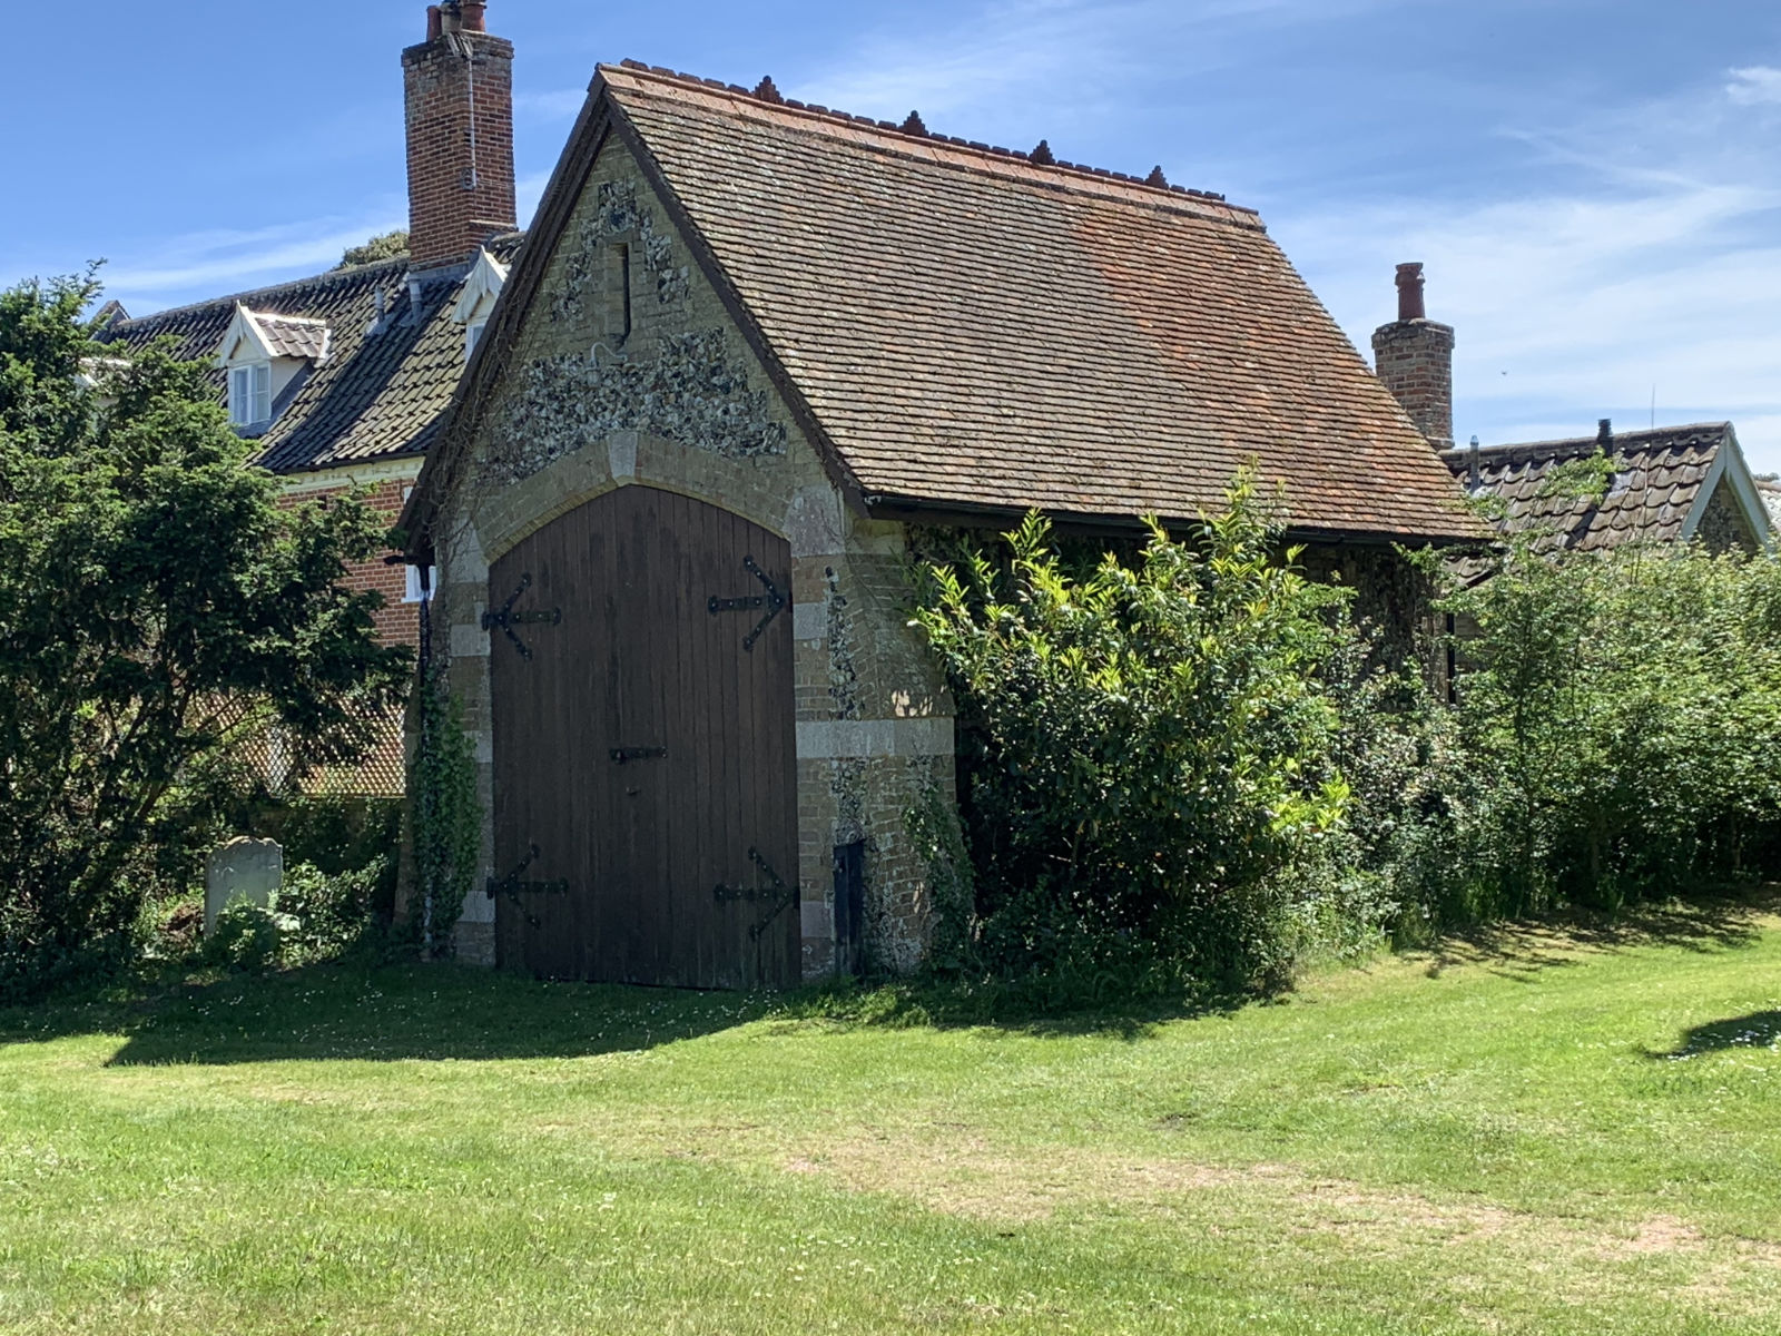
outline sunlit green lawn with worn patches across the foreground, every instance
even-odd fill
[[[0,1329],[1781,1331],[1781,919],[1200,1017],[319,969],[0,1014]]]

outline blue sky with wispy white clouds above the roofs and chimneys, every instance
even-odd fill
[[[522,217],[634,57],[1263,212],[1362,347],[1398,260],[1485,444],[1729,417],[1781,470],[1781,5],[1767,0],[492,0]],[[415,0],[12,5],[0,281],[109,260],[134,314],[406,221]],[[30,61],[20,53],[32,53]],[[28,183],[28,185],[20,185]]]

